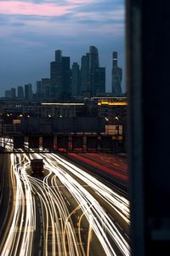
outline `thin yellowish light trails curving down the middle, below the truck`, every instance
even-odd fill
[[[31,154],[31,158],[32,155],[33,154]],[[29,159],[27,158],[27,160]],[[34,186],[36,191],[40,191],[37,193],[37,195],[42,200],[42,204],[45,209],[45,254],[48,255],[48,236],[49,226],[51,225],[52,234],[50,235],[52,235],[51,250],[53,255],[56,254],[56,246],[58,247],[59,255],[62,255],[62,253],[65,253],[66,255],[81,255],[81,253],[79,252],[79,246],[77,246],[77,236],[74,232],[74,226],[72,225],[71,221],[66,226],[66,238],[65,241],[63,241],[65,222],[66,218],[70,213],[68,212],[68,209],[65,205],[65,201],[59,193],[59,189],[56,189],[57,186],[55,185],[55,187],[53,188],[54,176],[50,179],[52,172],[50,171],[50,169],[48,169],[48,166],[46,166],[46,169],[48,170],[48,175],[44,177],[43,181],[30,177],[32,186]],[[68,243],[68,249],[65,247],[65,243]],[[67,251],[72,253],[68,253]]]

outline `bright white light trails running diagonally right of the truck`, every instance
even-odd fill
[[[41,156],[43,157],[42,154]],[[112,222],[108,214],[106,214],[105,210],[100,207],[99,202],[96,201],[80,183],[77,183],[75,178],[71,177],[68,172],[65,172],[65,170],[68,170],[74,174],[74,176],[77,176],[93,188],[99,195],[101,195],[102,200],[109,203],[111,207],[119,213],[120,217],[123,218],[127,224],[129,224],[128,201],[111,189],[107,188],[87,172],[83,172],[80,168],[77,168],[77,166],[72,165],[70,162],[63,160],[55,154],[46,154],[44,162],[45,166],[48,167],[48,169],[51,169],[52,172],[59,177],[59,180],[70,191],[71,195],[73,195],[77,201],[77,204],[81,205],[82,212],[85,212],[84,214],[88,219],[88,222],[90,222],[89,216],[93,216],[94,221],[92,229],[96,236],[99,237],[99,241],[101,242],[106,255],[116,255],[116,253],[111,246],[111,242],[108,237],[105,236],[105,231],[119,247],[122,255],[129,255],[130,248],[127,241],[123,238],[116,225]],[[62,168],[60,166],[62,166]],[[90,205],[93,205],[93,207],[90,208]],[[101,224],[101,219],[103,220],[103,224]],[[105,228],[105,231],[103,227]]]

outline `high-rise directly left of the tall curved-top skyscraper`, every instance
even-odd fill
[[[89,91],[90,91],[89,53],[87,53],[86,55],[82,55],[80,94],[88,95]]]

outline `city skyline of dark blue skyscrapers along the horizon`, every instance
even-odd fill
[[[117,66],[118,55],[112,53],[111,96],[122,94],[122,68]],[[77,96],[107,96],[105,88],[105,67],[101,67],[99,51],[93,45],[89,52],[82,55],[81,66],[77,62],[71,65],[70,56],[64,56],[62,49],[54,52],[54,61],[49,63],[50,77],[38,80],[36,90],[32,84],[19,85],[5,90],[5,97],[26,100],[71,100]],[[25,90],[24,90],[25,87]],[[27,88],[27,89],[26,89]],[[16,93],[17,92],[17,93]]]

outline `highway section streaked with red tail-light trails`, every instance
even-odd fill
[[[68,153],[67,159],[128,191],[127,158],[108,153]]]

